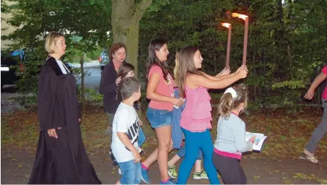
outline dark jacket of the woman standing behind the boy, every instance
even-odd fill
[[[103,96],[103,106],[106,112],[111,114],[115,114],[121,99],[116,99],[116,90],[117,86],[115,81],[117,79],[117,71],[115,70],[115,66],[113,66],[113,62],[108,62],[104,69],[101,72],[101,81],[99,86],[99,93]]]

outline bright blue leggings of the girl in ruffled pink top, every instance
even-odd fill
[[[212,154],[214,153],[214,145],[212,144],[210,131],[190,132],[181,129],[185,134],[185,157],[179,167],[179,177],[177,184],[186,184],[188,176],[190,176],[192,167],[198,156],[199,149],[203,153],[203,166],[210,184],[221,184],[217,177],[217,171],[212,162]]]

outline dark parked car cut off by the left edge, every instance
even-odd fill
[[[2,54],[3,52],[1,52],[1,89],[3,85],[15,84],[20,79],[17,73],[24,71],[25,62],[27,62],[23,49],[9,51],[5,55]],[[65,65],[71,71],[71,64],[65,63]],[[16,69],[14,66],[17,66],[19,69]],[[41,66],[39,68],[41,69]]]

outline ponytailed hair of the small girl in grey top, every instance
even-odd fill
[[[221,97],[221,101],[218,106],[218,113],[221,117],[228,119],[232,110],[238,108],[240,103],[244,103],[244,111],[247,108],[247,86],[245,84],[237,84],[233,86],[236,91],[236,97],[232,97],[232,93],[225,93]]]

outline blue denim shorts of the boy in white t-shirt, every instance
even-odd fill
[[[118,165],[122,171],[120,184],[141,184],[141,162],[135,163],[134,160],[128,160],[118,162]]]

